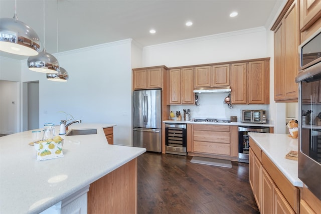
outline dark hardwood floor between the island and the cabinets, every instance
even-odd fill
[[[138,214],[259,213],[247,163],[224,168],[191,159],[152,152],[138,157]]]

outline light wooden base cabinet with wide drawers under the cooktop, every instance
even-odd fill
[[[190,130],[189,155],[237,160],[237,126],[192,124]]]

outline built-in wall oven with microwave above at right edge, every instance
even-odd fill
[[[299,46],[298,177],[321,200],[321,29]],[[303,123],[303,111],[311,110]]]

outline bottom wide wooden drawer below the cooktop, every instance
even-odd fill
[[[230,144],[194,141],[194,152],[230,155]]]

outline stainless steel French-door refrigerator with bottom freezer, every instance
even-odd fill
[[[133,146],[162,152],[161,89],[133,93]]]

